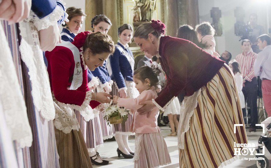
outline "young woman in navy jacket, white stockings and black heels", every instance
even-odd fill
[[[136,98],[139,92],[135,88],[133,82],[134,57],[129,49],[128,43],[132,39],[133,28],[130,24],[124,24],[118,29],[120,40],[115,45],[115,52],[109,57],[107,69],[111,79],[114,81],[112,87],[112,95],[117,95],[121,98]],[[121,153],[126,158],[132,158],[134,152],[128,145],[128,136],[130,125],[132,123],[132,115],[128,115],[126,122],[114,124],[115,139],[118,143],[118,153]]]

